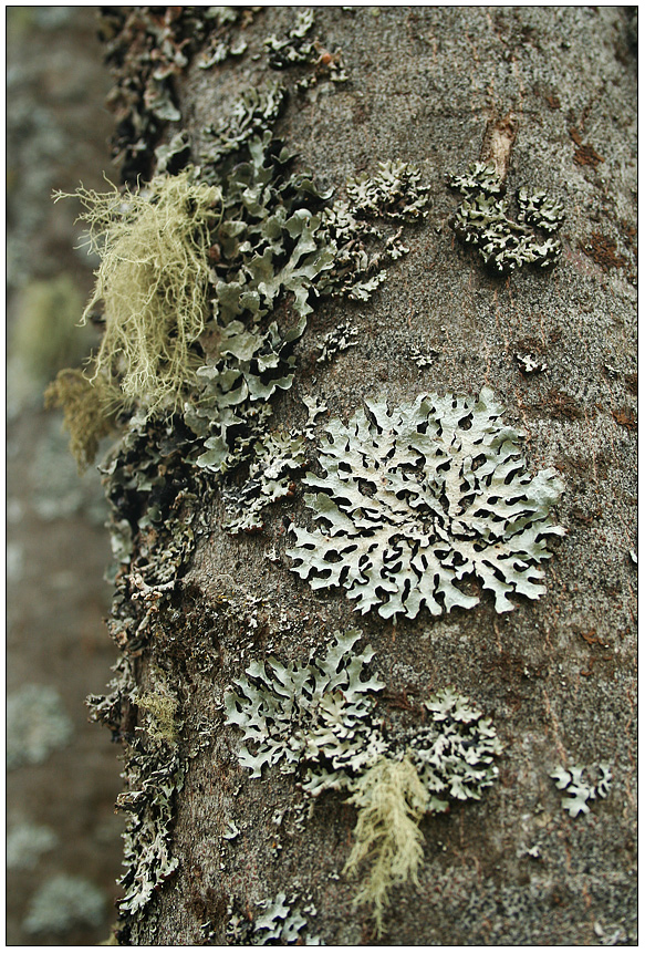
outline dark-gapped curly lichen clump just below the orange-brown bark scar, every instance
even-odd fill
[[[461,241],[478,249],[496,274],[506,274],[522,265],[544,269],[558,261],[562,244],[553,235],[562,226],[564,213],[562,205],[547,193],[531,194],[520,188],[514,221],[509,217],[509,200],[501,197],[503,184],[493,166],[475,163],[467,174],[449,176],[448,184],[464,196],[452,228]]]

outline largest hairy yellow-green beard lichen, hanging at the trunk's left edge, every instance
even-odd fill
[[[116,380],[126,403],[173,410],[194,380],[190,349],[208,315],[209,227],[221,191],[186,170],[154,178],[141,193],[80,188],[77,196],[90,250],[101,256],[83,314],[103,308],[93,376]]]

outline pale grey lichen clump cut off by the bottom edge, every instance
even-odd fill
[[[256,907],[253,920],[237,912],[232,905],[228,911],[226,939],[229,946],[320,946],[320,936],[310,936],[303,931],[308,926],[300,910],[292,909],[297,897],[288,898],[280,892],[274,900],[261,900]],[[315,912],[315,911],[314,911]]]

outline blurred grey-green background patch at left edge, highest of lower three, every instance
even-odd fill
[[[7,698],[7,767],[38,765],[72,738],[62,700],[49,685],[23,685]]]

